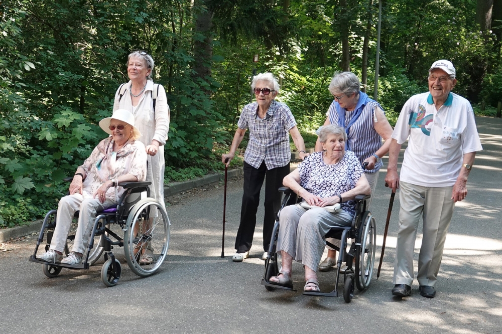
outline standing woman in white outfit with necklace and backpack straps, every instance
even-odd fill
[[[129,55],[127,73],[130,81],[117,89],[113,110],[126,109],[134,115],[142,133],[139,140],[145,144],[148,154],[147,181],[152,183],[150,196],[165,206],[164,145],[168,138],[170,113],[164,87],[152,80],[153,69],[154,60],[146,51],[136,50]],[[141,263],[148,264],[150,259],[148,254],[143,254]]]

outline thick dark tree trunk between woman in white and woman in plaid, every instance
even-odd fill
[[[195,31],[197,34],[204,36],[204,39],[197,39],[194,43],[195,62],[193,69],[195,71],[195,77],[205,79],[211,76],[211,61],[213,57],[211,20],[213,18],[213,12],[206,6],[208,0],[198,0],[197,2],[197,8],[203,7],[205,11],[197,14]]]

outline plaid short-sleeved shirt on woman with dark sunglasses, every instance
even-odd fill
[[[291,160],[289,130],[296,126],[289,107],[272,101],[264,119],[258,117],[258,102],[244,106],[238,127],[249,128],[249,142],[244,161],[258,169],[265,160],[267,170],[283,167]]]

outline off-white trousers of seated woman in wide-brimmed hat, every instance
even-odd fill
[[[63,197],[59,201],[56,228],[54,229],[50,248],[63,252],[73,215],[75,212],[80,211],[75,241],[73,242],[73,249],[71,251],[83,254],[87,248],[87,242],[94,226],[96,212],[109,208],[113,204],[114,202],[109,198],[106,198],[104,203],[101,203],[98,199],[84,200],[81,194]]]

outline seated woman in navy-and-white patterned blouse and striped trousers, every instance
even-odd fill
[[[350,226],[355,197],[371,192],[359,160],[352,151],[345,151],[345,130],[336,125],[323,126],[319,138],[324,151],[312,153],[284,178],[284,186],[304,203],[280,212],[276,251],[281,253],[282,266],[268,282],[292,288],[295,259],[305,267],[305,292],[319,292],[316,269],[326,246],[325,235],[334,227]],[[330,207],[338,207],[336,204],[340,207]]]

